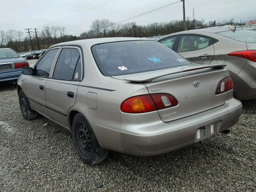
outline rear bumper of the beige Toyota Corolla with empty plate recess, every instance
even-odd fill
[[[232,94],[232,92],[230,92]],[[124,152],[136,156],[154,156],[164,154],[204,138],[208,138],[219,132],[230,128],[238,122],[242,113],[242,104],[240,101],[230,98],[226,103],[217,108],[201,112],[186,118],[164,123],[159,121],[154,125],[142,127],[136,133],[124,132],[125,128],[121,127],[121,141]],[[198,128],[214,124],[214,133],[204,138],[197,139],[196,131]],[[143,126],[143,125],[141,125]],[[151,130],[154,128],[156,134],[141,134],[142,130]]]

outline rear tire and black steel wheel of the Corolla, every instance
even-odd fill
[[[108,151],[100,147],[92,127],[80,113],[74,117],[72,135],[76,152],[86,164],[98,164],[108,155]]]

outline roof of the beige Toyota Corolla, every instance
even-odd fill
[[[94,38],[94,39],[83,39],[83,40],[76,40],[76,41],[69,41],[55,44],[51,47],[56,46],[64,46],[64,45],[82,45],[82,44],[90,44],[90,46],[95,44],[101,43],[108,43],[108,42],[118,42],[118,41],[133,41],[133,40],[152,40],[148,38],[133,38],[133,37],[109,37],[109,38]],[[152,40],[154,41],[154,40]]]

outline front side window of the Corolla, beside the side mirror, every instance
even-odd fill
[[[54,58],[58,53],[59,49],[52,49],[48,51],[42,59],[38,62],[35,67],[36,75],[48,77],[50,74],[50,70],[52,68],[52,64],[54,62]]]

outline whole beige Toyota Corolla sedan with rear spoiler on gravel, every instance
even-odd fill
[[[193,64],[145,38],[60,43],[23,70],[20,109],[70,130],[88,164],[108,150],[163,154],[236,124],[242,104],[224,66]]]

